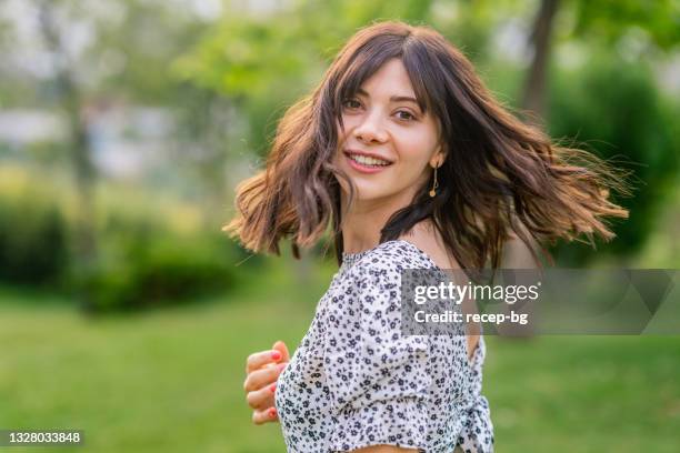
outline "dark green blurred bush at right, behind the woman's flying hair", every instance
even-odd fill
[[[612,222],[618,238],[600,251],[632,254],[656,226],[658,213],[678,184],[680,148],[672,105],[663,102],[644,64],[593,53],[583,66],[553,74],[550,132],[576,139],[620,169],[633,173],[633,197],[614,199],[630,218]],[[592,251],[586,245],[558,250],[563,264],[580,264]]]

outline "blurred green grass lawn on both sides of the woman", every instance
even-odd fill
[[[107,319],[0,292],[0,429],[80,429],[88,452],[283,452],[278,424],[250,423],[242,383],[250,352],[294,349],[324,290],[286,279]],[[487,342],[498,451],[680,450],[680,338]]]

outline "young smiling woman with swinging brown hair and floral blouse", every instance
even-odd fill
[[[499,268],[511,239],[611,239],[613,177],[508,113],[432,29],[360,30],[226,226],[253,251],[290,238],[298,258],[330,223],[340,265],[292,359],[281,342],[248,358],[253,422],[280,420],[290,452],[492,451],[483,338],[402,334],[400,272]]]

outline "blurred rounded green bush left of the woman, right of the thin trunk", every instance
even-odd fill
[[[98,265],[77,285],[94,311],[147,309],[227,289],[234,262],[224,236],[182,235],[153,221],[113,215],[101,234]]]

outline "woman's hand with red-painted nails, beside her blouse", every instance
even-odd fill
[[[252,353],[246,361],[246,401],[253,409],[252,422],[262,424],[279,420],[274,407],[274,392],[279,374],[290,361],[288,348],[277,341],[271,350]]]

